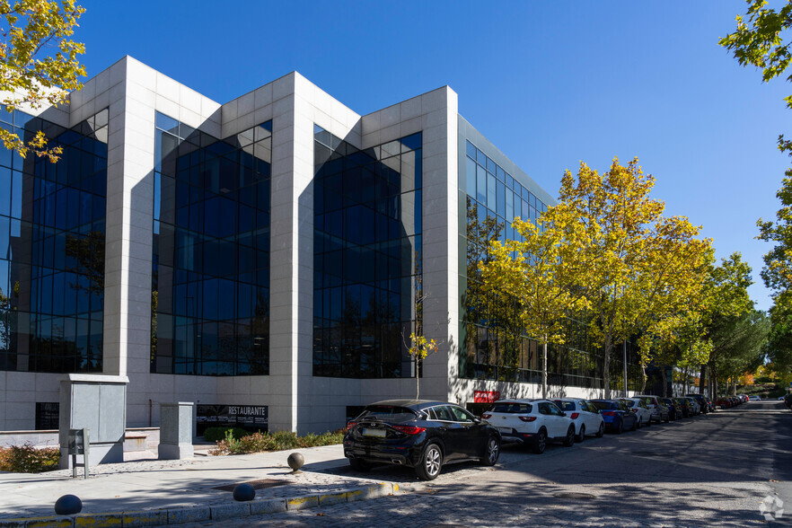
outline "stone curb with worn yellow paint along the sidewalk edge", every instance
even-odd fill
[[[0,519],[0,528],[81,528],[163,526],[169,524],[199,523],[250,517],[251,515],[280,514],[318,506],[355,502],[369,498],[387,497],[405,491],[398,484],[379,482],[369,486],[348,488],[331,493],[288,498],[264,498],[250,502],[231,502],[216,506],[180,506],[131,512],[102,514],[52,515]]]

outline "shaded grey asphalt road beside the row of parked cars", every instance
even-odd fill
[[[330,471],[351,470],[343,465]],[[416,480],[412,471],[395,467],[367,476]],[[787,506],[786,516],[779,516],[776,498]],[[771,516],[766,520],[763,513]],[[776,401],[750,402],[636,432],[589,437],[573,447],[552,445],[541,455],[506,446],[495,468],[472,462],[446,466],[421,493],[222,525],[265,524],[792,525],[792,412]]]

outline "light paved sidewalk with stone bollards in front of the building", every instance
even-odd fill
[[[296,474],[286,463],[294,452],[302,453],[305,459],[303,471]],[[273,453],[196,456],[181,461],[101,464],[91,468],[88,480],[81,472],[73,479],[71,470],[0,473],[0,527],[31,525],[34,517],[52,517],[57,498],[66,494],[83,501],[81,515],[36,522],[58,526],[178,524],[251,515],[251,508],[254,513],[266,513],[351,502],[410,488],[409,483],[405,486],[361,479],[345,471],[328,472],[346,466],[341,445],[330,445]],[[274,486],[258,489],[250,503],[235,502],[230,489],[255,480]],[[217,489],[220,487],[229,488]]]

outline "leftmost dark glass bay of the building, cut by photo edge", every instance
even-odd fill
[[[0,145],[0,370],[101,372],[107,122],[0,110],[0,126],[63,148],[50,163]]]

